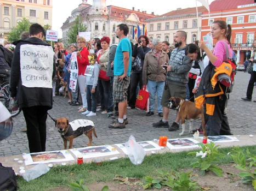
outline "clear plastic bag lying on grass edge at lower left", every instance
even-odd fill
[[[22,177],[27,181],[31,181],[33,179],[38,178],[39,176],[47,173],[50,170],[50,168],[45,164],[38,164],[31,168],[30,170],[27,170]]]

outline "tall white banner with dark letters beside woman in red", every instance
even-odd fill
[[[70,57],[70,82],[69,87],[72,92],[76,91],[76,84],[78,78],[78,63],[77,63],[77,56],[76,52],[73,52]]]

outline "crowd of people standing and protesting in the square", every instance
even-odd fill
[[[62,43],[55,43],[50,51],[50,45],[43,41],[43,27],[33,24],[29,37],[13,43],[16,47],[10,70],[11,96],[13,99],[19,97],[30,152],[45,151],[47,111],[52,109],[53,97],[66,92],[69,97],[67,102],[77,106],[82,115],[93,117],[97,115],[96,111],[100,111],[114,119],[109,128],[120,129],[126,128],[127,109],[135,109],[138,89],[145,86],[150,93],[146,116],[154,115],[157,94],[157,113],[162,119],[153,123],[156,128],[168,128],[169,131],[179,129],[178,110],[172,125],[168,123],[170,97],[192,102],[195,98],[197,106],[204,106],[207,135],[231,135],[225,114],[226,87],[221,83],[215,89],[211,86],[214,69],[226,61],[226,57],[232,57],[231,26],[225,21],[213,22],[211,33],[213,39],[217,40],[213,50],[209,50],[203,41],[186,45],[187,35],[184,31],[175,33],[174,49],[170,49],[168,41],[150,41],[146,35],[138,37],[133,44],[127,38],[128,32],[126,24],[117,26],[118,45],[110,45],[109,37],[93,38],[87,42],[78,36],[77,41],[66,49]],[[24,48],[32,50],[28,45],[35,50],[40,45],[48,53],[49,59],[42,64],[50,69],[44,71],[43,75],[50,76],[51,85],[46,82],[35,84],[24,78],[22,59],[28,58],[20,52]],[[225,46],[228,46],[229,55],[226,55]],[[51,58],[53,63],[50,62]],[[209,108],[208,103],[214,106]],[[115,116],[118,116],[117,119]],[[198,130],[202,132],[200,128]]]

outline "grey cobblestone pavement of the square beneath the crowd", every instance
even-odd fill
[[[254,117],[256,111],[256,103],[244,102],[241,97],[246,96],[246,89],[248,85],[250,75],[238,71],[236,75],[235,87],[230,95],[230,100],[227,106],[227,116],[231,132],[234,135],[256,135],[256,118]],[[255,91],[254,91],[255,92]],[[253,100],[256,100],[256,94],[253,95]],[[161,120],[161,117],[155,115],[150,117],[145,116],[146,111],[142,110],[128,110],[127,116],[129,124],[126,129],[109,129],[108,126],[112,122],[107,118],[106,114],[100,114],[101,111],[97,112],[95,117],[86,117],[77,112],[76,106],[70,106],[67,104],[68,99],[62,96],[56,96],[54,98],[53,109],[49,110],[49,114],[54,117],[67,117],[70,121],[77,120],[79,118],[86,118],[92,120],[96,125],[96,134],[98,139],[93,137],[92,146],[96,145],[111,145],[118,144],[128,141],[130,135],[134,135],[136,141],[146,141],[157,139],[159,136],[168,136],[168,138],[180,138],[179,133],[169,132],[166,128],[155,128],[152,126],[153,122]],[[155,107],[156,109],[157,107]],[[175,119],[175,111],[170,111],[169,124],[172,124]],[[26,123],[23,114],[13,118],[14,128],[9,138],[0,142],[0,157],[12,156],[20,153],[29,153],[29,146],[27,143],[26,133],[21,133],[20,129],[26,127]],[[200,120],[194,122],[194,128],[200,126]],[[192,137],[188,134],[189,124],[186,125],[185,137]],[[73,147],[86,147],[88,138],[85,135],[79,136],[73,142]],[[46,151],[61,150],[64,147],[60,134],[57,128],[54,126],[54,122],[48,117],[47,118],[47,142]]]

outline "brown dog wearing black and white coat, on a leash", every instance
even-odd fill
[[[61,138],[64,141],[64,150],[67,149],[67,141],[70,141],[69,149],[71,149],[73,139],[82,134],[85,134],[89,138],[87,146],[92,145],[92,134],[94,134],[95,138],[98,138],[95,132],[94,123],[90,120],[75,120],[69,122],[67,118],[62,117],[55,120],[55,127],[58,128],[58,132],[61,134]]]

